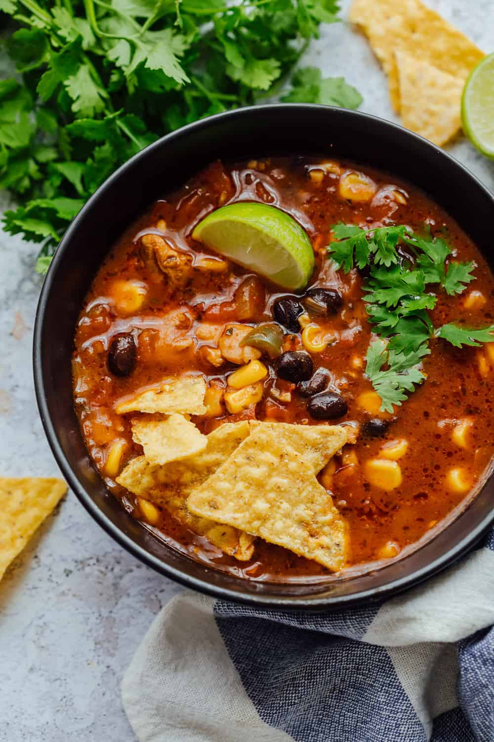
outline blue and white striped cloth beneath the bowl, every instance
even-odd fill
[[[424,585],[336,613],[183,591],[124,676],[139,742],[494,742],[494,531]]]

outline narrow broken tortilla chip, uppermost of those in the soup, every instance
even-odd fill
[[[161,382],[158,387],[141,392],[116,404],[115,411],[124,413],[173,413],[204,415],[206,382],[202,376],[182,376]]]

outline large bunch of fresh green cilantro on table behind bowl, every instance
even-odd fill
[[[84,201],[141,148],[196,119],[273,95],[336,0],[0,0],[13,18],[0,82],[4,229],[47,269]],[[16,27],[16,30],[14,28]],[[356,108],[343,79],[299,70],[287,99]]]

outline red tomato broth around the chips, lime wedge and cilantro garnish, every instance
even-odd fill
[[[341,197],[340,180],[354,171],[375,184],[370,200]],[[364,356],[371,338],[362,301],[364,278],[357,270],[345,275],[328,259],[330,227],[339,221],[369,229],[391,224],[417,229],[426,224],[432,234],[447,234],[455,260],[475,261],[476,280],[462,295],[440,296],[431,313],[435,326],[458,320],[470,326],[492,324],[494,280],[480,252],[452,217],[417,188],[371,168],[324,158],[285,157],[233,165],[214,162],[158,200],[127,229],[93,280],[76,327],[74,403],[87,450],[124,508],[145,522],[136,496],[115,482],[124,465],[142,453],[132,440],[130,416],[115,413],[116,401],[167,376],[190,371],[201,372],[221,397],[226,376],[236,365],[214,365],[218,336],[227,324],[255,326],[273,321],[273,301],[287,295],[233,263],[227,263],[224,270],[213,270],[224,267],[218,256],[190,236],[210,211],[242,200],[269,203],[292,214],[307,230],[316,253],[310,286],[334,289],[341,295],[338,312],[318,320],[336,341],[323,352],[312,354],[314,366],[330,372],[333,388],[347,401],[347,414],[334,422],[351,422],[361,430],[370,418],[381,418],[389,421],[389,426],[381,437],[359,435],[355,445],[345,447],[343,455],[336,457],[334,472],[327,470],[320,480],[347,519],[349,566],[396,557],[468,496],[467,491],[452,487],[451,471],[461,468],[470,491],[493,456],[494,344],[460,350],[441,340],[431,341],[431,354],[424,359],[424,384],[401,407],[395,407],[393,415],[371,409],[373,395],[365,395],[372,392],[372,386],[364,375]],[[143,243],[153,242],[150,234],[166,237],[189,266],[190,278],[183,287],[174,287],[156,261],[149,259],[149,250],[143,250]],[[129,281],[134,287],[130,293],[124,283]],[[127,376],[113,375],[107,365],[110,343],[119,333],[131,333],[136,340],[136,367]],[[300,332],[285,335],[284,349],[303,349]],[[193,421],[209,433],[225,421],[242,418],[319,422],[307,412],[307,399],[297,393],[295,385],[277,379],[273,370],[264,381],[263,397],[257,404],[236,414],[222,407],[220,414]],[[458,427],[461,424],[463,433]],[[109,473],[110,450],[116,440],[121,441],[122,453],[117,469],[113,462]],[[393,441],[406,447],[398,460],[402,482],[385,491],[367,480],[366,462],[382,455],[383,446]],[[162,508],[153,530],[191,557],[250,579],[330,574],[318,563],[261,539],[256,540],[250,562],[238,562]]]

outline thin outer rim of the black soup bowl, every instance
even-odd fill
[[[87,200],[81,211],[79,211],[79,213],[68,226],[67,231],[61,238],[59,247],[56,250],[55,256],[53,257],[47,275],[44,278],[44,282],[41,286],[41,292],[39,295],[38,306],[36,308],[36,318],[33,330],[34,387],[36,392],[36,401],[39,408],[39,414],[41,417],[41,423],[44,427],[44,433],[47,436],[50,449],[52,450],[53,456],[55,457],[56,462],[59,465],[61,473],[67,480],[70,488],[76,494],[79,502],[81,502],[81,505],[83,505],[87,512],[90,513],[90,515],[93,517],[93,519],[95,519],[96,522],[99,523],[101,528],[103,528],[104,531],[112,536],[112,538],[115,539],[115,541],[118,542],[119,545],[121,545],[126,551],[128,551],[130,554],[133,554],[134,557],[139,559],[147,566],[153,568],[159,574],[163,574],[165,577],[169,577],[171,580],[184,585],[184,587],[193,588],[194,590],[197,590],[201,593],[205,593],[207,595],[215,597],[218,600],[231,600],[234,603],[241,603],[261,609],[275,608],[278,610],[281,609],[292,611],[330,611],[347,608],[354,605],[375,603],[378,600],[383,600],[389,595],[401,593],[408,588],[413,587],[413,585],[418,585],[418,583],[423,582],[430,577],[433,577],[433,575],[435,574],[438,574],[439,571],[442,571],[447,566],[453,564],[453,562],[455,562],[463,554],[469,551],[470,548],[472,548],[473,545],[475,545],[475,543],[478,542],[479,539],[481,539],[484,533],[487,532],[487,530],[490,528],[490,525],[493,525],[494,508],[490,510],[490,512],[488,512],[483,519],[481,519],[481,522],[479,522],[478,525],[476,525],[475,528],[473,528],[467,534],[467,536],[464,536],[463,539],[455,542],[455,544],[453,544],[451,548],[445,551],[444,554],[441,554],[440,557],[436,557],[427,565],[424,565],[411,574],[407,574],[404,577],[398,577],[392,582],[387,582],[380,587],[367,588],[366,590],[360,591],[358,593],[339,595],[336,597],[333,597],[331,594],[325,594],[324,597],[317,597],[317,595],[315,595],[314,597],[307,598],[292,597],[290,595],[277,595],[276,597],[273,597],[264,596],[261,594],[241,594],[231,590],[230,588],[220,585],[213,585],[191,575],[184,574],[182,571],[173,567],[172,565],[168,565],[165,562],[162,562],[161,559],[153,556],[153,554],[150,554],[145,548],[136,544],[133,539],[131,539],[129,536],[126,536],[125,533],[123,533],[116,525],[113,524],[111,519],[106,516],[102,510],[100,510],[89,493],[87,493],[84,487],[81,486],[76,473],[74,473],[72,467],[67,461],[67,458],[59,442],[59,436],[56,433],[53,421],[50,417],[47,398],[44,393],[45,379],[42,364],[42,336],[47,303],[53,287],[56,286],[55,277],[57,266],[61,262],[67,246],[70,245],[73,234],[79,229],[79,223],[83,219],[84,214],[86,214],[87,211],[90,211],[93,203],[95,203],[96,200],[101,197],[101,194],[106,193],[111,188],[113,188],[113,184],[119,180],[121,174],[123,174],[128,168],[130,168],[133,163],[136,162],[136,160],[152,156],[153,151],[172,144],[176,139],[187,137],[190,134],[193,134],[198,129],[209,128],[222,119],[233,119],[246,115],[262,115],[265,112],[279,109],[284,109],[287,112],[296,110],[321,110],[327,111],[328,113],[332,112],[332,114],[336,116],[341,116],[341,119],[344,119],[345,117],[356,117],[361,119],[363,122],[373,122],[374,125],[381,126],[383,129],[387,129],[388,131],[390,131],[390,133],[396,132],[396,134],[398,134],[400,137],[409,137],[410,142],[413,142],[414,139],[418,140],[421,147],[425,149],[429,148],[430,151],[435,151],[436,153],[439,152],[441,154],[441,157],[444,157],[444,160],[450,160],[450,163],[453,164],[455,168],[458,168],[458,170],[462,172],[464,177],[468,177],[473,180],[478,188],[481,188],[481,190],[484,191],[487,197],[490,198],[494,207],[494,195],[490,192],[487,186],[484,185],[484,183],[482,183],[475,174],[473,174],[461,162],[456,160],[455,157],[453,157],[450,153],[437,147],[432,142],[424,139],[424,137],[420,137],[418,134],[405,129],[401,125],[392,121],[388,121],[387,119],[383,119],[380,116],[366,114],[362,111],[351,111],[346,108],[336,108],[334,106],[316,105],[312,103],[272,103],[265,105],[247,106],[244,108],[236,108],[233,111],[224,111],[220,114],[215,114],[214,116],[208,116],[207,118],[199,119],[198,121],[187,124],[177,129],[176,131],[170,132],[170,134],[165,134],[164,137],[157,139],[156,142],[148,145],[146,148],[131,157],[130,160],[124,162],[123,165],[121,165],[116,171],[110,174],[107,180],[105,180],[104,183],[99,186],[97,191],[95,191],[95,193]],[[491,472],[490,476],[487,476],[487,479],[481,488],[483,488],[487,484],[492,476],[494,476],[494,474]],[[478,494],[480,494],[480,491],[481,490],[479,489]],[[458,517],[461,517],[462,514],[463,513],[460,513]],[[446,528],[448,528],[448,526]],[[210,568],[208,568],[207,565],[204,565],[204,570],[207,571],[210,570]],[[241,578],[238,578],[238,582],[241,583]]]

